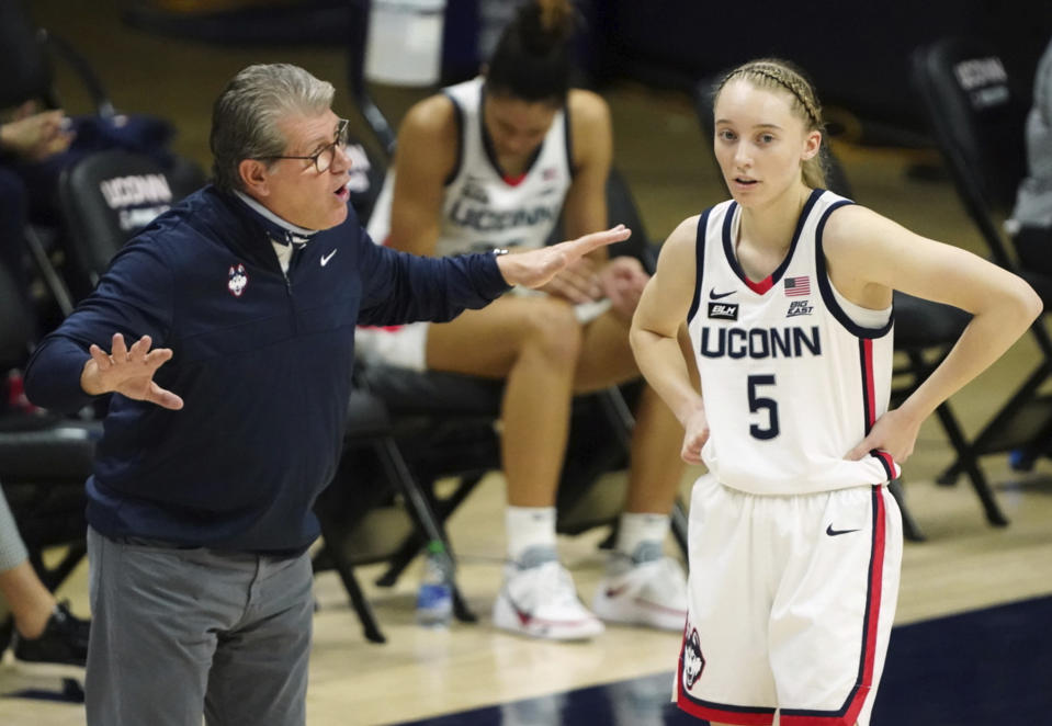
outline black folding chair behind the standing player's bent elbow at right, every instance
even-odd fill
[[[918,47],[912,80],[958,195],[997,264],[1026,277],[1049,309],[1052,280],[1020,268],[998,225],[1026,174],[1023,125],[1027,95],[1014,84],[997,53],[977,38],[947,37]],[[1052,396],[1040,394],[1052,374],[1052,339],[1042,318],[1030,328],[1040,360],[1016,393],[940,476],[950,484],[963,472],[984,497],[987,519],[1006,524],[985,481],[976,483],[980,457],[1013,450],[1032,461],[1052,443]],[[982,488],[981,488],[982,485]]]

